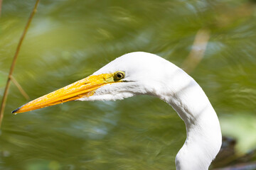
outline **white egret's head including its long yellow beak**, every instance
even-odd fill
[[[163,58],[146,52],[118,57],[91,76],[26,103],[12,113],[23,113],[66,101],[110,101],[152,94],[165,79]]]

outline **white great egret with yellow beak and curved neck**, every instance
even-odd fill
[[[176,169],[208,169],[220,150],[222,138],[210,101],[186,72],[147,52],[122,55],[91,76],[26,103],[12,113],[66,101],[115,101],[138,94],[166,101],[186,124],[186,142],[176,155]]]

